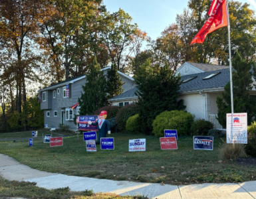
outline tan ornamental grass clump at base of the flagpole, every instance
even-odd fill
[[[221,139],[223,141],[223,139]],[[227,144],[225,141],[223,141],[223,144],[220,145],[219,148],[219,155],[221,159],[226,160],[235,160],[239,157],[243,157],[245,155],[245,145],[241,144]]]

